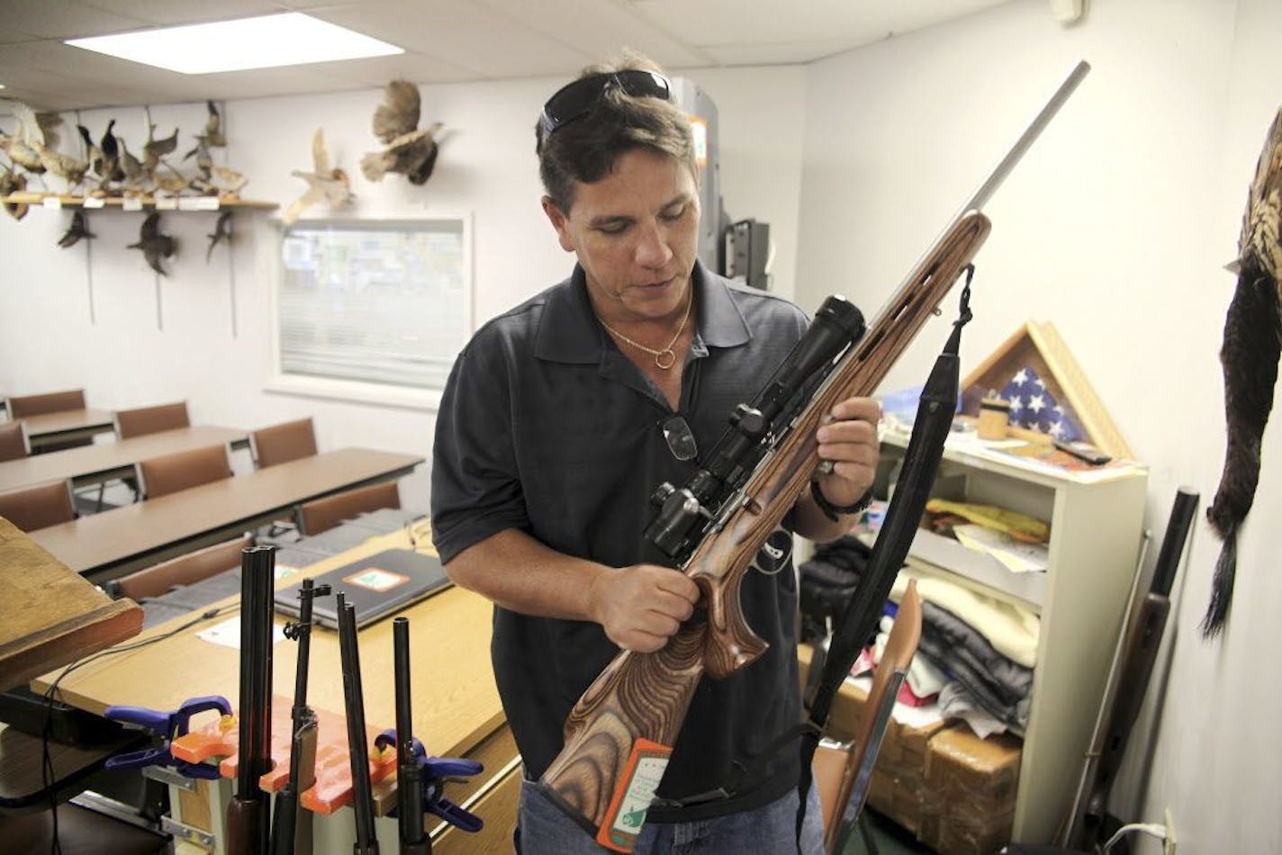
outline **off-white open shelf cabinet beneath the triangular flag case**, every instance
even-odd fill
[[[885,479],[908,437],[882,438]],[[1004,459],[1006,458],[1006,459]],[[1147,472],[1138,465],[1073,473],[950,437],[933,495],[1000,505],[1050,523],[1050,569],[1011,573],[990,556],[919,531],[909,567],[945,574],[1041,617],[1014,840],[1047,843],[1069,806],[1091,738],[1131,592]]]

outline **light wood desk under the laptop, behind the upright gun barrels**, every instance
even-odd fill
[[[429,538],[418,536],[415,541],[418,549],[432,551]],[[277,587],[294,585],[304,576],[324,573],[363,555],[409,547],[405,531],[374,536],[355,549],[286,576],[277,582]],[[218,605],[235,604],[236,600],[231,597]],[[515,796],[519,793],[519,761],[490,665],[491,613],[487,600],[458,587],[446,588],[399,613],[410,622],[414,736],[423,742],[429,756],[469,756],[485,764],[482,774],[465,786],[451,784],[446,795],[482,817],[486,829],[478,834],[458,833],[428,817],[433,851],[438,855],[491,852],[510,846]],[[235,706],[240,691],[238,651],[196,637],[197,632],[235,614],[232,608],[155,643],[90,663],[59,683],[58,699],[95,713],[112,704],[177,709],[182,701],[204,695],[222,695]],[[137,641],[173,633],[191,617],[155,626]],[[283,626],[285,618],[277,615],[276,623]],[[394,727],[392,619],[388,617],[362,629],[359,647],[365,722],[379,729]],[[272,691],[292,699],[297,645],[277,642],[272,658]],[[46,691],[54,677],[46,674],[36,679],[32,690]],[[323,627],[312,632],[308,704],[342,717],[338,635]],[[218,838],[214,851],[221,852],[222,818],[232,782],[224,778],[214,786],[204,781],[197,784],[196,795],[171,800],[181,814],[176,819],[212,831]],[[395,805],[394,792],[394,782],[376,786],[379,813]],[[376,829],[382,851],[396,851],[396,820],[381,817]],[[317,815],[315,833],[317,855],[351,852],[353,819],[346,810],[331,817]]]

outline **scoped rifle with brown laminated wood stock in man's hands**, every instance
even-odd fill
[[[740,606],[740,582],[819,469],[815,431],[832,408],[872,394],[990,231],[983,203],[1090,71],[1079,63],[917,263],[873,323],[828,297],[751,404],[741,404],[701,468],[662,485],[645,537],[694,579],[703,620],[655,652],[619,652],[574,705],[541,790],[597,843],[631,851],[704,674],[723,678],[765,651]]]

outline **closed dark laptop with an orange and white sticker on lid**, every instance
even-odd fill
[[[338,605],[333,595],[342,592],[355,606],[356,627],[364,627],[412,602],[427,599],[450,585],[441,560],[408,549],[390,549],[344,564],[313,577],[315,585],[328,585],[329,596],[312,602],[312,619],[322,627],[338,628]],[[299,617],[299,588],[291,585],[276,592],[276,610]]]

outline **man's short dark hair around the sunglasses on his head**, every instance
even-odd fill
[[[590,65],[579,79],[592,74],[644,69],[660,72],[638,54]],[[615,162],[633,149],[650,149],[690,167],[697,178],[695,142],[690,118],[676,104],[658,97],[633,97],[618,86],[608,86],[591,112],[545,135],[542,122],[535,126],[535,151],[544,190],[563,213],[574,203],[574,182],[594,183],[614,168]]]

